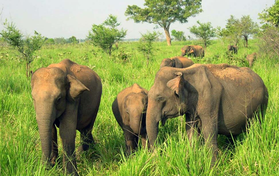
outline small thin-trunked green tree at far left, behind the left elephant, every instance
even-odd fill
[[[15,48],[24,58],[26,62],[26,76],[30,76],[30,63],[34,60],[34,53],[40,50],[44,42],[44,37],[37,31],[34,31],[33,36],[24,36],[13,22],[6,21],[3,23],[4,29],[1,35],[4,40],[13,48]]]

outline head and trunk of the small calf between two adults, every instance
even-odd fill
[[[146,134],[146,109],[147,109],[147,94],[131,93],[124,101],[125,116],[129,119],[130,128],[134,134]]]

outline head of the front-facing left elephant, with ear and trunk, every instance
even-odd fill
[[[39,68],[31,78],[32,98],[36,111],[44,161],[52,152],[52,125],[63,114],[67,103],[76,103],[89,90],[79,80],[57,67]]]

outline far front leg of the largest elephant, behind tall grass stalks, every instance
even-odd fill
[[[195,118],[189,118],[188,116],[186,116],[185,114],[185,129],[186,129],[186,134],[188,137],[189,142],[192,142],[193,137],[195,136],[195,134],[197,135],[197,137],[200,136],[199,132],[198,132],[198,121]]]

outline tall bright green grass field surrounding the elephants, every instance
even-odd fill
[[[167,120],[159,126],[159,147],[154,153],[140,149],[124,157],[123,131],[117,124],[111,105],[124,88],[138,83],[149,90],[163,58],[180,55],[180,48],[191,41],[155,43],[155,53],[146,59],[136,50],[136,42],[121,42],[120,49],[110,58],[98,48],[85,43],[44,46],[36,53],[31,70],[69,58],[92,68],[102,78],[103,93],[93,126],[96,142],[77,161],[80,175],[278,175],[279,173],[279,64],[278,59],[258,58],[252,69],[264,80],[269,92],[266,116],[260,126],[254,122],[249,133],[241,134],[235,146],[218,136],[220,154],[213,168],[211,156],[199,141],[188,142],[184,117]],[[192,41],[195,42],[195,41]],[[234,58],[225,55],[227,43],[212,41],[205,58],[193,58],[195,63],[229,63],[248,66],[247,54],[257,51],[257,40],[249,40],[249,48],[240,46]],[[126,61],[121,58],[128,56]],[[41,164],[41,146],[31,97],[30,78],[17,53],[0,48],[0,175],[65,175],[62,164],[51,169]],[[62,146],[58,138],[59,156]],[[79,145],[77,133],[76,147]]]

